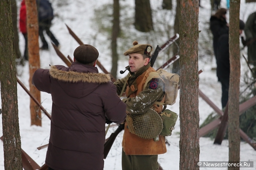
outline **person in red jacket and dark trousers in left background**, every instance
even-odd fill
[[[26,19],[26,5],[25,5],[25,0],[22,0],[21,6],[20,6],[19,29],[25,39],[25,50],[24,50],[23,57],[25,58],[25,60],[29,60],[29,54],[27,51],[27,21],[26,20],[27,20]]]

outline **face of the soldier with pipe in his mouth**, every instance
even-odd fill
[[[129,66],[131,72],[136,72],[143,66],[146,66],[149,62],[149,58],[143,59],[141,54],[131,53],[129,54]]]

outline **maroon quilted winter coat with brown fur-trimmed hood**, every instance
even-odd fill
[[[97,67],[72,63],[35,71],[32,83],[52,95],[52,118],[46,164],[54,170],[103,170],[105,116],[126,118],[126,105],[110,76]]]

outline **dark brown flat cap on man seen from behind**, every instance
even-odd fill
[[[96,61],[98,56],[98,50],[89,44],[78,46],[74,51],[74,58],[84,64]]]

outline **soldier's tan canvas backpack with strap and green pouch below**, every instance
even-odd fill
[[[176,102],[177,94],[178,94],[178,83],[180,81],[180,76],[178,74],[169,73],[162,68],[157,70],[157,72],[150,72],[146,83],[143,89],[146,88],[147,83],[153,77],[159,77],[163,79],[165,84],[165,101],[162,102],[155,102],[155,104],[159,105],[173,105]],[[166,107],[165,107],[166,108]],[[163,122],[163,129],[160,135],[163,136],[170,136],[172,135],[172,131],[175,129],[175,124],[178,118],[178,114],[170,111],[168,109],[164,109],[164,111],[160,114],[162,122]]]

